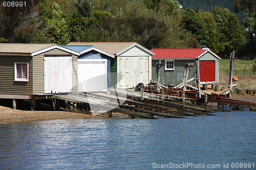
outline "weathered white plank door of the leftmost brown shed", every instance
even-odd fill
[[[72,57],[45,57],[45,93],[72,92]]]

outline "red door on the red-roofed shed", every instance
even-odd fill
[[[215,61],[199,61],[200,82],[215,82]]]

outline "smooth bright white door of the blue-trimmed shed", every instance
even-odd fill
[[[78,59],[78,92],[106,91],[107,60]]]

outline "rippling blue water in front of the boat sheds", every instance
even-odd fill
[[[0,126],[0,169],[256,169],[256,113],[216,114]]]

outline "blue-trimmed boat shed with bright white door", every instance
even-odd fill
[[[92,45],[62,45],[78,52],[78,92],[108,91],[111,82],[111,60],[115,55]]]

